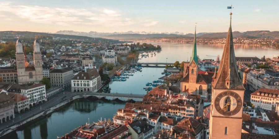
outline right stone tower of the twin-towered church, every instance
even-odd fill
[[[40,51],[40,44],[36,38],[34,41],[34,53],[33,53],[33,60],[34,60],[34,67],[36,70],[36,81],[41,81],[43,78],[42,75],[42,53]]]

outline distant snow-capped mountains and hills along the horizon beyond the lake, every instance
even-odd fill
[[[75,32],[75,31],[58,31],[57,34],[67,34],[76,36],[88,36],[88,37],[101,37],[116,40],[144,40],[147,38],[165,38],[165,37],[193,37],[192,33],[182,32]],[[225,38],[227,32],[201,32],[197,33],[197,37],[201,39],[216,39]],[[233,37],[243,38],[268,38],[268,39],[279,39],[279,31],[246,31],[246,32],[233,32]]]

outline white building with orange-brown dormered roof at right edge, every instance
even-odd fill
[[[260,88],[251,94],[251,103],[264,110],[279,112],[279,90]]]

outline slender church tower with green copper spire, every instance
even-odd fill
[[[197,41],[196,41],[196,27],[195,27],[193,52],[189,62],[189,93],[196,91],[198,65],[199,63],[197,57]]]

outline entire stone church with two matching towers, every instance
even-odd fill
[[[31,65],[27,61],[27,57],[23,52],[23,46],[21,41],[18,39],[15,44],[15,58],[17,67],[18,83],[24,84],[29,82],[39,83],[42,78],[42,53],[40,51],[40,44],[36,39],[34,41],[34,53],[33,53],[33,63]]]

